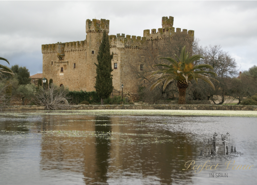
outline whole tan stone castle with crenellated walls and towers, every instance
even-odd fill
[[[131,64],[137,66],[138,71],[144,70],[145,44],[149,41],[159,42],[165,36],[175,33],[173,17],[162,17],[162,28],[144,30],[143,37],[125,34],[110,35],[110,52],[114,53],[112,59],[112,75],[114,89],[124,92],[137,92],[139,80],[131,72]],[[109,33],[109,20],[86,20],[86,40],[56,44],[43,44],[43,77],[53,79],[59,86],[68,86],[69,90],[95,90],[95,76],[97,54],[103,31]],[[176,28],[176,32],[181,32]],[[183,32],[194,36],[194,31],[183,29]]]

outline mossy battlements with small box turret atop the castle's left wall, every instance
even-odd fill
[[[57,56],[64,56],[66,51],[77,51],[85,49],[86,40],[74,41],[74,42],[65,42],[56,44],[42,44],[42,53],[51,52],[57,53]]]

